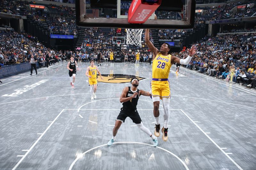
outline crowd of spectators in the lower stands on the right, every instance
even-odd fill
[[[221,35],[196,44],[198,52],[186,68],[255,89],[256,34]],[[181,58],[186,51],[174,54]]]

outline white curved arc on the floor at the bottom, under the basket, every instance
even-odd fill
[[[145,143],[140,143],[140,142],[115,142],[115,143],[113,143],[113,144],[125,144],[125,143],[126,143],[126,144],[145,144]],[[100,146],[96,146],[96,147],[94,147],[94,148],[92,148],[92,149],[89,149],[89,150],[85,151],[84,153],[82,153],[82,154],[80,155],[80,157],[77,157],[77,158],[72,162],[72,164],[69,166],[68,170],[71,170],[71,169],[73,168],[73,166],[75,165],[76,161],[77,161],[79,158],[82,158],[83,155],[85,155],[87,152],[90,152],[90,151],[92,151],[92,150],[94,150],[94,149],[97,149],[97,148],[99,148],[99,147],[106,146],[106,145],[108,145],[108,144],[102,144],[102,145],[100,145]],[[148,145],[148,146],[152,146],[152,147],[153,147],[152,144],[145,144],[145,145]],[[156,148],[162,149],[162,150],[164,150],[165,152],[168,152],[168,153],[172,154],[175,158],[177,158],[177,159],[183,164],[183,166],[186,168],[186,170],[189,170],[189,169],[188,169],[188,166],[185,164],[185,162],[184,162],[183,160],[181,160],[177,155],[175,155],[174,153],[172,153],[172,152],[170,152],[170,151],[168,151],[168,150],[166,150],[166,149],[164,149],[164,148],[161,148],[161,147],[159,147],[159,146],[156,146]]]

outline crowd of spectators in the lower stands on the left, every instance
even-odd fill
[[[40,67],[46,66],[46,55],[49,55],[50,65],[64,62],[71,52],[56,51],[45,48],[43,44],[37,41],[27,33],[17,33],[13,30],[0,31],[0,64],[12,65],[29,62],[31,55],[34,55]]]

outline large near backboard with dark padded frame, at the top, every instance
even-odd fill
[[[161,0],[134,0],[161,1]],[[76,0],[76,24],[82,27],[133,29],[191,29],[195,20],[195,0],[162,0],[143,24],[130,24],[128,10],[132,0]],[[150,3],[148,3],[150,5]],[[155,20],[155,14],[157,20]]]

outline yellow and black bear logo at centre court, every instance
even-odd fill
[[[130,74],[101,74],[103,80],[97,75],[97,81],[101,83],[130,83],[131,79],[136,77],[139,81],[145,79],[144,77],[130,75]]]

